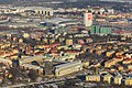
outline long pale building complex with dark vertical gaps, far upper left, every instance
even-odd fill
[[[0,13],[23,13],[23,12],[33,12],[38,15],[53,15],[54,11],[51,8],[43,7],[8,7],[0,8]]]

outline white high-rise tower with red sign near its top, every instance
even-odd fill
[[[85,26],[92,25],[92,13],[84,13],[84,24]]]

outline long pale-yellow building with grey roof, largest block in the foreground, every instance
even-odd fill
[[[55,76],[64,76],[82,69],[81,61],[76,61],[67,64],[55,66]]]

